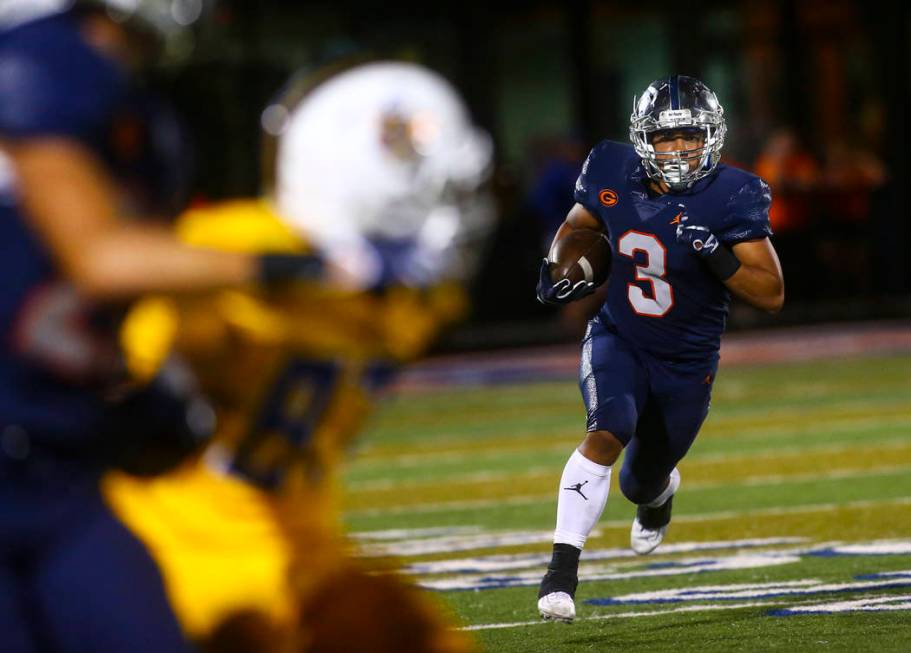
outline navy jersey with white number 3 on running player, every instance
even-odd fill
[[[677,224],[708,227],[728,246],[771,235],[771,193],[759,177],[719,165],[684,193],[650,194],[631,145],[604,141],[591,151],[575,199],[606,228],[613,249],[599,319],[663,359],[717,356],[730,294],[688,246]]]

